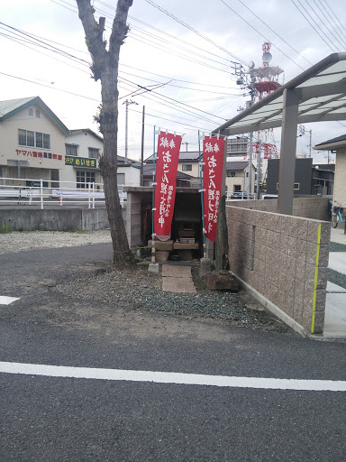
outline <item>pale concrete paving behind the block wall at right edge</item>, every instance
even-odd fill
[[[346,245],[344,227],[332,228],[331,242]],[[331,252],[328,268],[346,275],[346,252]],[[346,337],[346,290],[327,283],[323,337]]]

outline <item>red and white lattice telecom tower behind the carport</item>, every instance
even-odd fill
[[[253,91],[254,87],[256,89],[254,95],[254,101],[259,101],[263,97],[267,97],[270,93],[273,93],[276,89],[281,87],[281,84],[278,83],[278,76],[283,73],[283,69],[280,69],[278,66],[269,66],[269,62],[272,60],[270,53],[270,43],[265,42],[262,45],[262,61],[263,65],[259,68],[254,66],[250,69],[252,73],[253,82],[249,88]],[[278,158],[278,148],[274,140],[273,129],[262,130],[259,132],[261,138],[261,157],[263,159],[275,159]],[[259,152],[259,143],[252,144],[253,158],[258,158]]]

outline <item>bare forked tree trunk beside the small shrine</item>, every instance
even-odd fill
[[[117,80],[120,47],[128,31],[126,20],[131,5],[132,0],[118,0],[107,51],[103,39],[105,18],[100,18],[99,23],[96,23],[95,10],[90,5],[90,0],[77,0],[79,18],[86,32],[87,48],[93,60],[93,78],[101,80],[102,106],[96,120],[100,124],[100,132],[104,135],[104,153],[99,163],[105,185],[105,206],[113,242],[114,265],[125,263],[129,254],[117,181]]]

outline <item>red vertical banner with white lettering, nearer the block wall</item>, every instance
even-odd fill
[[[205,214],[205,236],[215,240],[217,209],[223,183],[224,139],[206,136],[203,142],[203,208]]]

